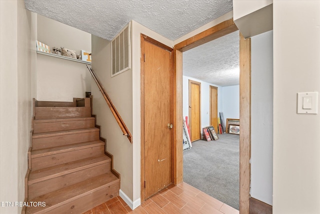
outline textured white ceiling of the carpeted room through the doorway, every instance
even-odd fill
[[[239,85],[239,31],[183,52],[183,75],[218,86]]]

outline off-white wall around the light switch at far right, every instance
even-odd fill
[[[320,1],[273,1],[273,213],[320,213],[320,114],[297,93],[320,92]],[[318,102],[320,109],[320,102]]]

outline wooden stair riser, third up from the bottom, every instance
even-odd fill
[[[32,158],[31,156],[31,167],[32,171],[34,171],[37,169],[55,166],[79,159],[95,157],[101,154],[104,154],[104,146],[102,145],[59,154],[47,155],[43,157]]]

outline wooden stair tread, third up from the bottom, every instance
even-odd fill
[[[75,150],[79,150],[79,149],[100,146],[100,145],[104,145],[104,142],[101,140],[94,140],[94,141],[88,141],[88,142],[82,142],[82,143],[68,144],[68,145],[64,145],[64,146],[55,146],[55,147],[44,148],[44,149],[35,149],[35,150],[31,151],[31,158],[42,157],[42,156],[58,154],[58,153],[64,153],[64,152],[69,152],[69,151],[75,151]]]

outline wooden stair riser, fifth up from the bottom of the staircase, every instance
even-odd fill
[[[62,131],[72,129],[93,128],[94,119],[90,120],[74,120],[74,121],[59,121],[59,122],[34,122],[33,133],[50,132],[50,131]]]

